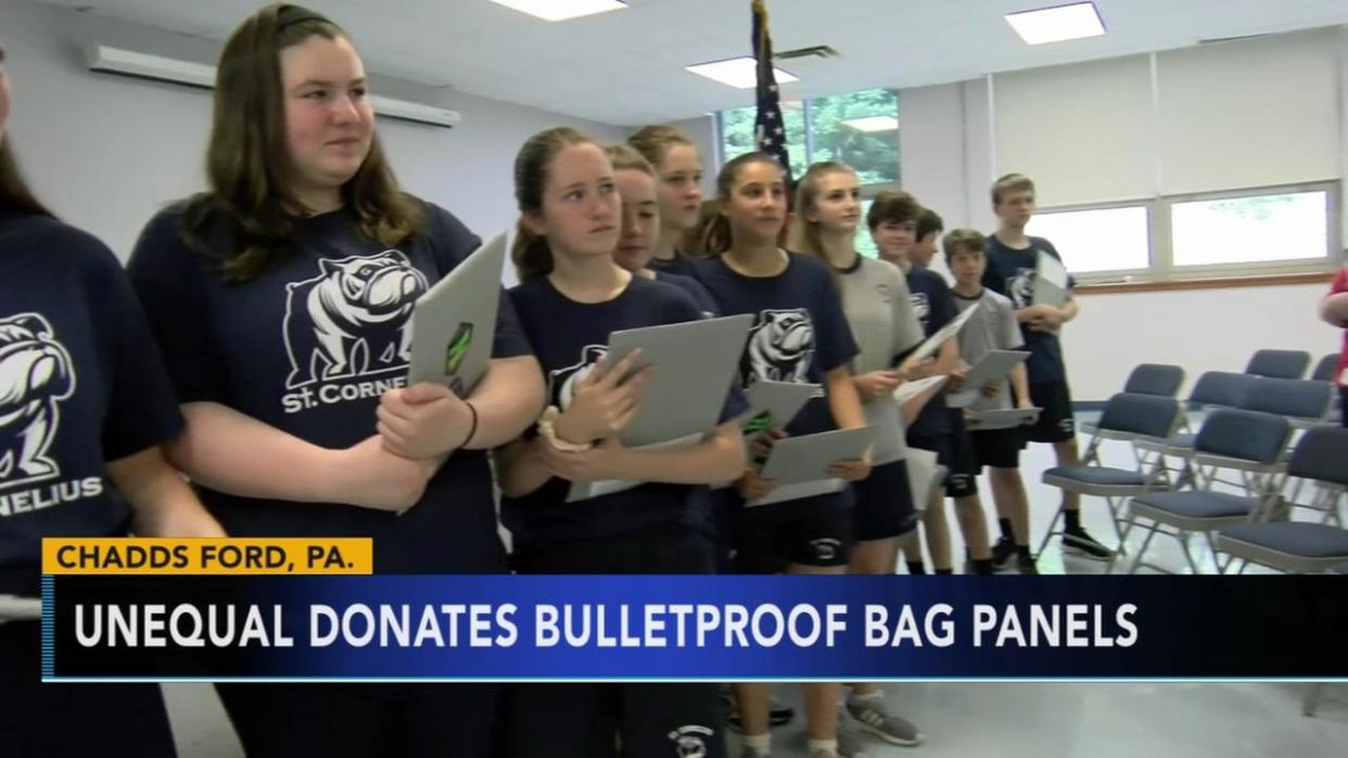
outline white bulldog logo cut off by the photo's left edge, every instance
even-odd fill
[[[70,353],[46,318],[0,319],[0,489],[61,475],[47,450],[74,390]]]

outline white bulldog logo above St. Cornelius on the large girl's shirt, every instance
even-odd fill
[[[319,260],[318,276],[286,285],[286,389],[407,365],[408,316],[426,277],[399,250]]]

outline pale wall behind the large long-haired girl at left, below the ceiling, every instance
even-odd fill
[[[65,219],[125,257],[156,209],[204,188],[210,93],[90,73],[81,43],[97,39],[210,63],[217,43],[23,0],[0,0],[0,38],[15,89],[9,136],[31,183]],[[516,215],[511,166],[531,133],[562,124],[605,141],[627,133],[383,77],[372,85],[464,114],[456,129],[380,118],[379,135],[407,190],[484,236]]]

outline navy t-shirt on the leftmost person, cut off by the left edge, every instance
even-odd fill
[[[98,240],[0,209],[0,592],[38,587],[42,537],[124,535],[104,478],[182,431],[121,264]]]

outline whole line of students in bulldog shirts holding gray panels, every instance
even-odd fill
[[[909,447],[950,470],[945,490],[973,570],[1015,560],[1034,572],[1018,454],[1029,439],[1076,459],[1055,337],[1076,306],[1029,299],[1035,257],[1057,254],[1023,233],[1029,179],[993,187],[993,237],[945,236],[952,291],[926,268],[941,221],[906,193],[882,193],[867,214],[883,260],[857,253],[860,194],[845,164],[811,166],[789,213],[782,167],[741,155],[717,175],[716,211],[700,218],[700,156],[677,129],[647,127],[611,147],[576,129],[541,132],[514,166],[520,284],[501,295],[485,377],[458,397],[403,386],[407,319],[479,238],[399,190],[349,36],[313,11],[270,5],[233,32],[217,71],[209,188],[150,219],[123,272],[24,184],[3,131],[0,53],[0,592],[35,594],[42,536],[127,530],[372,537],[386,574],[883,575],[900,548],[917,572]],[[690,233],[705,256],[681,252]],[[909,357],[975,303],[957,343],[936,359]],[[737,314],[754,326],[720,425],[682,450],[623,447],[650,369],[632,373],[638,355],[609,361],[609,334]],[[967,432],[945,390],[902,408],[892,399],[937,373],[957,388],[981,354],[1020,347],[1027,370],[977,389],[996,407],[1042,408],[1026,432]],[[745,439],[743,389],[760,380],[818,389],[785,427]],[[869,452],[829,470],[848,486],[744,506],[778,487],[759,475],[775,440],[863,425],[875,429]],[[992,470],[995,547],[980,466]],[[569,482],[592,479],[643,483],[566,502]],[[735,485],[712,487],[721,482]],[[941,499],[921,522],[948,574]],[[1065,505],[1065,545],[1108,557]],[[0,642],[7,750],[173,753],[156,688],[39,685],[38,625],[0,625]],[[841,684],[803,685],[811,758],[863,754],[856,731],[922,742],[878,685],[849,687],[856,730],[840,730]],[[256,755],[725,751],[710,685],[217,691]],[[789,712],[764,684],[735,685],[733,703],[744,758],[770,755],[770,726]]]

